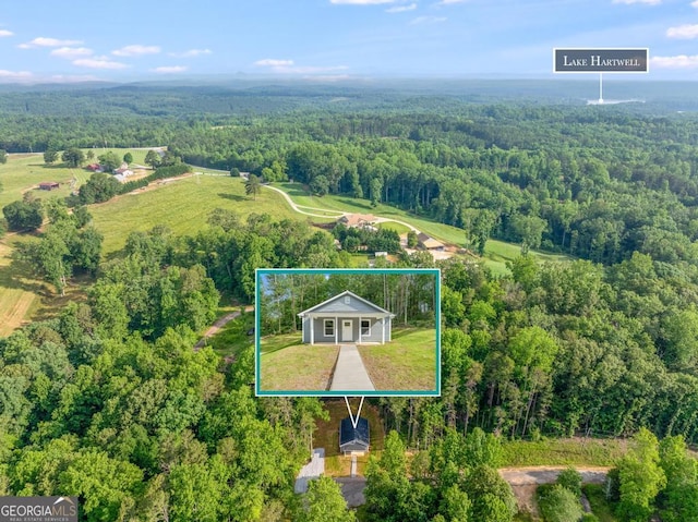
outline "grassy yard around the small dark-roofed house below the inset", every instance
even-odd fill
[[[359,409],[359,399],[349,400],[351,411],[356,415]],[[313,434],[313,446],[325,448],[325,474],[329,476],[349,476],[351,470],[351,457],[344,457],[339,453],[339,423],[349,416],[347,404],[344,399],[326,400],[325,410],[329,412],[329,421],[318,421],[317,428]],[[361,416],[369,421],[369,453],[378,457],[383,451],[385,432],[378,415],[378,410],[368,401],[363,403]],[[369,454],[357,458],[357,471],[363,475],[369,463]]]

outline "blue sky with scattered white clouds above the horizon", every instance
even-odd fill
[[[698,80],[698,0],[3,3],[5,83],[551,77],[554,47],[648,47],[648,78]]]

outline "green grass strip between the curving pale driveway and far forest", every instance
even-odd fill
[[[304,205],[327,210],[338,210],[345,213],[373,214],[385,218],[397,219],[411,224],[421,232],[454,245],[462,245],[465,232],[449,224],[437,223],[425,218],[412,216],[409,213],[389,205],[378,204],[371,206],[368,199],[352,198],[340,195],[325,195],[322,197],[309,194],[300,183],[275,183],[275,186],[285,191],[297,205]],[[269,191],[270,192],[270,191]],[[382,227],[389,227],[398,230],[399,233],[407,232],[407,227],[400,223],[382,223]],[[506,262],[514,259],[520,253],[519,245],[505,243],[497,240],[488,240],[485,245],[485,262],[495,275],[507,274]],[[531,251],[540,260],[565,260],[568,256]]]

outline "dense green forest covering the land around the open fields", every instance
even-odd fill
[[[366,472],[370,520],[512,520],[492,475],[495,440],[633,434],[612,491],[622,520],[654,508],[694,517],[698,477],[682,456],[698,442],[695,114],[413,96],[353,112],[308,100],[242,116],[182,117],[167,104],[95,118],[8,109],[31,96],[3,100],[0,148],[168,145],[193,165],[454,224],[472,251],[490,238],[521,244],[503,277],[424,253],[376,260],[441,268],[443,386],[438,398],[376,400],[395,435]],[[86,302],[0,339],[0,494],[79,495],[87,520],[320,520],[292,477],[322,402],[255,400],[252,348],[224,364],[192,347],[220,294],[254,299],[255,268],[349,267],[350,255],[306,224],[212,210],[195,235],[133,233],[119,258],[97,263],[100,238],[81,213],[52,209],[24,255],[62,242],[60,264],[96,281]],[[575,259],[538,264],[527,251],[539,246]],[[405,447],[423,456],[418,481]],[[643,497],[638,475],[653,477]],[[316,487],[323,501],[336,493]]]

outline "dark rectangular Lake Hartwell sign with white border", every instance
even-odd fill
[[[556,73],[646,73],[648,49],[553,49]]]

